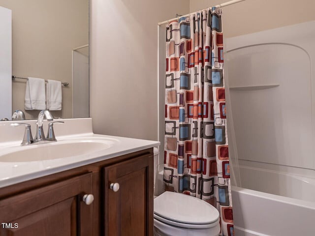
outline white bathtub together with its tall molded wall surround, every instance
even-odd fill
[[[236,235],[314,235],[314,29],[310,21],[225,41],[242,187],[232,187]]]

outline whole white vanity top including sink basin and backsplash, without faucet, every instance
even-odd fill
[[[57,142],[21,146],[24,129],[0,122],[0,188],[44,177],[135,151],[157,147],[157,141],[94,134],[92,118],[58,119]],[[27,121],[33,128],[36,120]],[[44,121],[44,130],[48,128]]]

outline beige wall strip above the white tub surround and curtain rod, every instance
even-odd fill
[[[228,0],[190,0],[190,12]],[[225,37],[315,20],[315,0],[246,0],[223,8]]]

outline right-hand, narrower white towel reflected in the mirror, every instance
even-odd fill
[[[62,109],[63,93],[61,82],[48,80],[46,85],[46,107],[48,110],[57,111]]]

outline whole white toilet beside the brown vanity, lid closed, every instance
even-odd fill
[[[164,192],[154,199],[155,236],[219,236],[219,211],[203,200]]]

